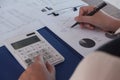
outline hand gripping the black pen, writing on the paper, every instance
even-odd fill
[[[81,27],[87,27],[94,29],[98,27],[105,31],[116,31],[120,26],[120,20],[106,14],[103,11],[99,11],[93,16],[86,16],[89,12],[93,11],[93,6],[83,6],[80,8],[79,16],[75,18],[77,22],[82,22]]]

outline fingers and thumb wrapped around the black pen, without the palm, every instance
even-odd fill
[[[75,20],[81,23],[80,24],[81,28],[86,27],[89,29],[94,29],[93,25],[91,25],[94,23],[93,18],[90,16],[85,16],[91,11],[93,11],[94,8],[95,8],[94,6],[83,6],[80,8],[79,16],[75,17]]]

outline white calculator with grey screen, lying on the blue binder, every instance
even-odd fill
[[[53,65],[64,61],[64,57],[37,31],[8,39],[5,41],[5,46],[25,69],[38,55],[42,55],[45,61]]]

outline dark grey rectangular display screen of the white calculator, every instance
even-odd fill
[[[32,37],[17,41],[15,43],[12,43],[11,45],[13,46],[14,49],[20,49],[30,44],[36,43],[38,41],[40,41],[40,39],[37,36],[32,36]]]

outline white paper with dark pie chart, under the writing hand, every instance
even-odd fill
[[[79,5],[83,5],[83,3]],[[48,20],[47,24],[55,34],[77,52],[86,56],[111,39],[106,37],[106,34],[100,30],[82,29],[79,25],[71,28],[75,23],[74,18],[78,13],[79,8],[77,11],[73,11],[73,9],[63,10],[59,12],[59,16],[47,16],[46,21]]]

